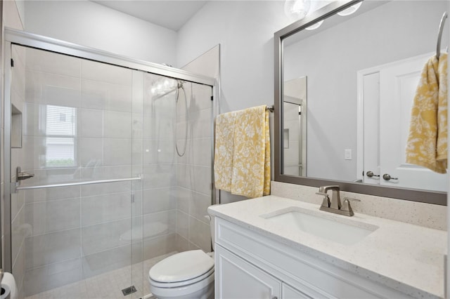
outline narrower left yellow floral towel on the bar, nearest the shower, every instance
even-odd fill
[[[217,189],[231,192],[233,174],[234,126],[236,112],[219,114],[216,118],[214,147],[214,185]]]

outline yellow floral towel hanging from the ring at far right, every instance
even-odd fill
[[[406,163],[446,173],[447,54],[433,56],[423,67],[411,109]]]

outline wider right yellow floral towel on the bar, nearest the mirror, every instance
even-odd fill
[[[231,193],[255,198],[270,194],[269,111],[266,106],[236,114]]]

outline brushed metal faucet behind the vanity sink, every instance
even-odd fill
[[[328,190],[331,190],[331,200],[328,197]],[[340,202],[339,186],[321,186],[319,187],[319,192],[316,194],[323,195],[323,201],[320,210],[327,211],[331,213],[336,213],[340,215],[353,216],[352,206],[350,206],[350,201],[360,201],[359,199],[350,199],[345,197],[344,202]]]

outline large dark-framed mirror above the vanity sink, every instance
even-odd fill
[[[446,205],[449,174],[406,164],[405,149],[416,86],[449,8],[331,1],[276,32],[275,180]],[[445,52],[449,22],[443,32]]]

